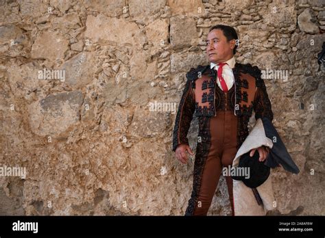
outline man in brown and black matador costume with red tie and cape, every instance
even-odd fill
[[[252,156],[258,152],[258,161],[269,168],[281,164],[289,172],[299,172],[272,125],[272,105],[261,70],[235,62],[237,42],[234,28],[211,27],[206,38],[210,64],[186,73],[173,130],[173,151],[182,163],[188,161],[186,153],[193,155],[187,139],[193,114],[198,118],[199,133],[193,190],[185,215],[208,213],[222,169],[238,166],[244,153]],[[256,124],[249,132],[253,111]],[[271,176],[254,189],[231,176],[225,178],[232,215],[265,215],[274,209]]]

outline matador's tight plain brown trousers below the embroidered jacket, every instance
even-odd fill
[[[217,116],[210,118],[211,147],[203,170],[200,193],[193,215],[206,215],[219,183],[223,167],[232,166],[237,153],[237,116],[234,111],[217,111]],[[234,215],[234,198],[232,178],[225,176],[232,215]]]

